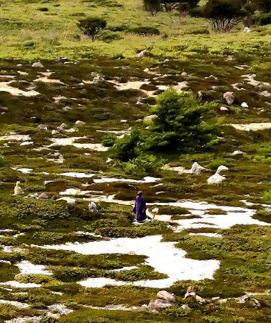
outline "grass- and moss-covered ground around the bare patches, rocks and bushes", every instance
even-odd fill
[[[167,224],[152,222],[144,226],[133,226],[131,206],[118,205],[110,201],[99,202],[99,212],[89,213],[88,201],[99,195],[115,194],[115,199],[130,201],[138,190],[143,190],[147,202],[169,202],[181,199],[208,201],[227,206],[245,206],[240,200],[246,199],[259,208],[254,218],[270,223],[270,212],[263,210],[263,192],[270,190],[271,158],[270,130],[238,131],[231,123],[268,122],[271,117],[270,97],[261,92],[270,91],[270,27],[252,33],[241,33],[240,26],[228,35],[206,33],[208,22],[188,17],[173,17],[159,14],[149,18],[138,7],[138,1],[118,1],[124,5],[110,6],[103,1],[11,1],[2,3],[0,81],[10,81],[7,76],[15,75],[12,85],[27,90],[31,85],[40,93],[37,97],[15,97],[8,92],[0,92],[0,133],[28,134],[33,145],[19,146],[10,142],[9,147],[0,146],[4,164],[0,167],[0,229],[13,232],[1,233],[0,244],[15,247],[13,252],[0,250],[0,281],[16,280],[21,283],[38,283],[41,288],[24,289],[0,288],[1,299],[22,301],[31,304],[27,310],[18,310],[0,305],[0,321],[13,317],[37,315],[37,310],[62,303],[74,308],[74,313],[61,317],[60,322],[235,322],[253,323],[270,320],[270,228],[269,226],[234,226],[228,230],[189,229],[173,233]],[[60,6],[58,6],[60,5]],[[47,7],[48,11],[37,8]],[[109,9],[110,8],[110,9]],[[108,19],[108,26],[129,25],[131,27],[157,25],[162,36],[142,37],[120,31],[122,39],[113,42],[92,43],[85,37],[79,40],[76,22],[84,15],[102,15]],[[19,31],[18,31],[19,30]],[[197,33],[197,35],[195,35]],[[136,60],[136,53],[148,48],[149,58]],[[67,56],[77,60],[77,64],[56,63],[56,56]],[[170,58],[165,61],[165,58]],[[41,59],[44,68],[31,68],[33,60]],[[31,63],[30,63],[31,62]],[[22,64],[22,66],[17,66]],[[146,72],[146,68],[149,72]],[[63,84],[35,81],[40,72],[49,69],[54,72],[49,78],[59,79]],[[145,70],[145,71],[144,71]],[[24,72],[18,74],[17,71]],[[145,81],[142,90],[156,90],[158,85],[176,85],[187,81],[188,90],[195,94],[202,91],[202,100],[217,103],[215,117],[224,119],[219,144],[208,151],[197,154],[160,154],[172,166],[189,169],[194,161],[210,169],[200,176],[178,174],[170,170],[158,170],[157,183],[95,183],[101,175],[129,178],[122,167],[106,163],[107,152],[78,149],[74,146],[47,147],[49,138],[83,137],[77,143],[101,142],[105,133],[97,130],[125,130],[130,126],[143,125],[136,120],[149,114],[149,105],[155,103],[142,90],[117,90],[113,83],[82,83],[89,81],[91,72],[103,74],[106,81]],[[181,76],[186,72],[187,76]],[[28,74],[25,74],[28,73]],[[249,84],[244,74],[255,73],[255,80]],[[213,77],[210,77],[213,75]],[[233,84],[239,88],[234,89]],[[233,106],[223,100],[226,91],[234,91]],[[61,99],[55,99],[62,97]],[[249,108],[240,108],[243,101]],[[70,110],[65,110],[69,106]],[[227,106],[224,113],[221,106]],[[8,110],[6,110],[8,108]],[[34,117],[34,118],[33,118]],[[32,119],[33,118],[33,119]],[[126,122],[120,122],[120,120]],[[76,120],[86,122],[85,126],[74,126]],[[62,122],[67,128],[74,127],[74,133],[51,135],[51,131]],[[36,130],[38,124],[47,124],[47,131]],[[52,150],[49,150],[52,149]],[[243,155],[231,156],[235,150]],[[59,152],[64,162],[56,164],[47,158],[57,158]],[[90,155],[85,155],[85,153]],[[221,185],[208,185],[206,179],[219,165],[229,167],[227,180]],[[11,169],[28,167],[30,174]],[[47,172],[49,174],[44,174]],[[91,179],[75,179],[61,176],[63,172],[87,172],[95,174]],[[131,177],[131,176],[130,176]],[[140,176],[138,176],[140,179]],[[22,183],[25,195],[46,192],[47,201],[33,198],[13,197],[16,181]],[[44,181],[53,181],[46,183]],[[60,192],[68,188],[90,190],[78,199],[77,206],[68,206],[65,201],[56,201]],[[220,210],[208,210],[209,215],[219,215]],[[159,215],[172,215],[172,220],[196,217],[185,208],[159,207]],[[78,232],[78,231],[83,231]],[[86,235],[86,232],[99,236]],[[222,238],[191,236],[190,232],[220,233]],[[24,235],[16,235],[24,233]],[[163,314],[108,311],[84,308],[85,306],[106,306],[124,304],[142,306],[156,297],[158,290],[153,288],[105,287],[86,289],[76,283],[86,277],[108,277],[123,281],[140,279],[161,279],[164,276],[144,265],[145,256],[135,255],[96,255],[84,256],[72,251],[52,251],[33,245],[54,245],[66,242],[90,242],[107,238],[137,238],[161,234],[165,241],[178,242],[177,247],[188,252],[187,257],[206,260],[220,260],[220,269],[213,280],[183,281],[176,283],[170,292],[176,295],[176,306]],[[16,249],[19,248],[19,249]],[[52,276],[40,274],[18,275],[16,263],[28,260],[35,265],[47,265]],[[124,272],[111,272],[124,266],[137,266],[138,269]],[[197,292],[208,301],[207,304],[190,304],[191,313],[181,309],[183,295],[188,285],[195,285]],[[56,294],[56,292],[58,294]],[[256,310],[250,305],[237,304],[234,297],[245,292],[258,292],[256,298],[263,305]],[[62,293],[62,294],[61,294]],[[211,304],[211,297],[227,297],[225,305]]]

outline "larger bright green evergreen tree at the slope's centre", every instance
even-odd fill
[[[216,140],[219,122],[212,122],[215,103],[201,104],[192,92],[178,94],[170,89],[160,94],[151,113],[143,143],[145,149],[160,151],[195,151]]]

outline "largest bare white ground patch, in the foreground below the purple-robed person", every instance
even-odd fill
[[[70,250],[79,254],[136,254],[147,256],[146,264],[156,272],[168,276],[167,279],[142,280],[133,283],[115,281],[115,279],[90,278],[79,283],[85,287],[104,285],[136,285],[150,288],[168,288],[176,281],[213,279],[218,269],[218,260],[194,260],[186,258],[186,251],[175,247],[177,242],[161,242],[161,235],[144,238],[117,238],[107,241],[88,243],[67,243],[66,245],[44,246],[44,249]]]

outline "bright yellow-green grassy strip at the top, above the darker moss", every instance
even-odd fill
[[[76,26],[78,20],[93,15],[107,20],[104,35],[119,39],[108,42],[101,36],[92,43],[82,35]],[[135,35],[132,29],[136,26],[156,26],[161,35]],[[258,46],[267,50],[271,34],[270,27],[243,33],[243,26],[238,26],[227,35],[217,35],[205,19],[179,17],[176,13],[150,17],[142,10],[140,0],[1,1],[0,28],[0,57],[28,60],[56,56],[133,58],[146,48],[157,59],[183,58],[195,51],[249,53]]]

